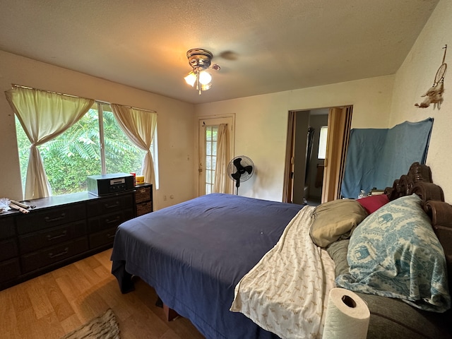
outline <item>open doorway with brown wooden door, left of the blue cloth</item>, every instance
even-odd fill
[[[283,201],[316,206],[340,198],[351,121],[352,106],[289,112]]]

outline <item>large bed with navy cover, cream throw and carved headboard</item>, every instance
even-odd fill
[[[357,209],[343,213],[345,219],[354,213],[361,216],[325,233],[323,225],[317,226],[322,208],[331,212],[329,205],[201,196],[120,225],[112,273],[123,293],[133,291],[134,276],[144,280],[166,309],[190,319],[209,339],[321,338],[328,291],[339,283],[355,289],[369,305],[368,338],[451,338],[447,270],[452,277],[452,206],[432,183],[429,167],[419,164],[386,189],[384,197],[384,203],[374,198],[367,203],[339,201],[341,208]],[[432,298],[422,297],[422,302],[427,300],[422,305],[409,297],[359,290],[359,275],[350,278],[356,267],[353,261],[349,265],[347,254],[359,253],[349,248],[355,249],[358,235],[368,235],[364,224],[390,222],[383,209],[396,205],[404,210],[404,199],[420,206],[422,218],[431,222],[435,235],[427,238],[441,242],[443,261],[440,253],[439,261],[430,265],[434,282],[427,282],[432,283],[427,289]],[[331,213],[325,218],[331,220]],[[304,254],[304,246],[311,248],[309,254]],[[436,309],[426,310],[429,307]]]

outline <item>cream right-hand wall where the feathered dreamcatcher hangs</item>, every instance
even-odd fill
[[[408,57],[396,73],[393,102],[389,126],[400,124],[405,120],[420,121],[427,117],[434,118],[432,137],[430,139],[427,165],[432,168],[433,181],[444,189],[448,203],[452,203],[452,1],[441,0],[434,13],[424,26]],[[433,85],[437,69],[444,56],[444,47],[448,44],[446,54],[446,73],[444,85],[444,102],[441,109],[430,107],[420,109],[415,103],[424,99],[421,95]]]

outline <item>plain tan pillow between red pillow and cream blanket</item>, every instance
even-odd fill
[[[312,213],[309,235],[314,244],[326,248],[338,239],[350,238],[355,227],[366,217],[366,210],[356,200],[328,201]]]

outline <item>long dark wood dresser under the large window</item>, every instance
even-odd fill
[[[0,290],[112,247],[121,222],[143,210],[136,197],[152,211],[152,185],[141,186],[108,196],[40,198],[25,201],[36,206],[30,213],[0,214]]]

